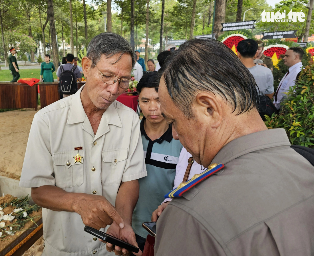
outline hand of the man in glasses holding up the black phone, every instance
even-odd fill
[[[119,238],[120,240],[127,242],[135,247],[138,248],[138,244],[136,242],[135,233],[132,229],[132,227],[125,223],[125,226],[123,229],[121,229],[115,222],[111,224],[111,226],[107,230],[107,234]],[[104,241],[103,241],[104,242]],[[108,252],[114,252],[116,255],[123,255],[128,256],[131,255],[131,251],[121,248],[119,246],[115,246],[111,243],[107,243],[107,251]],[[138,253],[134,253],[134,255],[141,256],[143,252],[141,250],[138,251]]]

